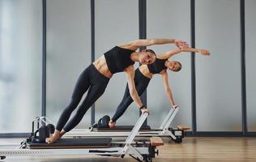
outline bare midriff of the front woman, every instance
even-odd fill
[[[102,55],[100,58],[96,59],[96,61],[93,62],[92,64],[96,67],[96,70],[98,70],[105,77],[107,77],[109,79],[112,77],[112,73],[109,71],[109,67],[107,65],[104,55]]]

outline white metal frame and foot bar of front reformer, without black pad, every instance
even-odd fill
[[[134,143],[134,138],[138,134],[139,129],[146,120],[148,113],[143,113],[139,120],[134,125],[126,141],[122,144],[111,143],[113,147],[107,148],[56,148],[56,149],[28,149],[26,143],[21,143],[19,148],[15,149],[1,149],[0,157],[1,160],[5,159],[6,156],[61,156],[61,155],[100,155],[100,156],[116,156],[124,157],[130,155],[137,161],[152,161],[156,151],[156,146],[152,146],[149,142]],[[119,146],[119,147],[118,147]]]

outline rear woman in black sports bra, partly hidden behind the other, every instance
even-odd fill
[[[142,65],[135,71],[134,83],[138,95],[141,96],[143,92],[147,89],[148,83],[150,82],[153,75],[160,74],[164,82],[164,88],[166,90],[167,96],[169,98],[170,104],[173,108],[177,107],[173,99],[173,94],[171,88],[169,87],[168,73],[167,69],[172,71],[181,70],[181,63],[177,61],[169,61],[168,58],[171,58],[174,54],[181,52],[195,52],[201,53],[203,55],[210,55],[206,49],[193,49],[188,46],[181,46],[180,48],[173,49],[167,53],[156,55],[156,61],[149,65]],[[113,115],[112,119],[109,122],[109,127],[112,128],[115,126],[116,121],[119,117],[125,113],[128,106],[133,102],[129,94],[129,89],[126,86],[126,91],[123,96],[121,103],[117,106],[116,113]]]

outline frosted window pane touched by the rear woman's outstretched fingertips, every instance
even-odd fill
[[[196,56],[198,131],[241,131],[239,0],[197,0],[195,42],[211,51]]]

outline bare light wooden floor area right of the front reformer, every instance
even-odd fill
[[[256,138],[186,138],[160,150],[157,161],[256,161]]]

